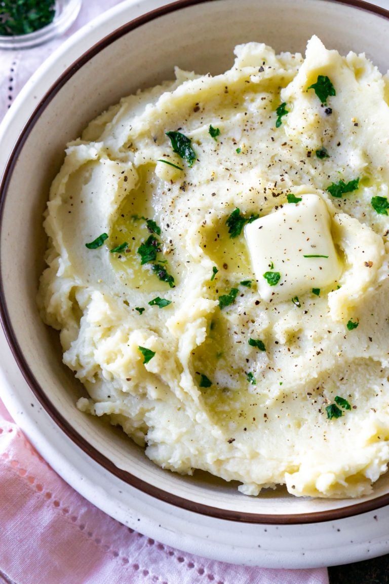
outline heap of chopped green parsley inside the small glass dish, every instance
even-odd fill
[[[55,16],[55,4],[54,0],[2,0],[0,34],[28,34],[50,25]]]

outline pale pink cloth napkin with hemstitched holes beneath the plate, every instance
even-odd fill
[[[75,32],[119,0],[83,2]],[[0,50],[0,120],[64,39]],[[1,387],[0,387],[1,394]],[[0,401],[0,583],[328,584],[326,569],[274,570],[211,561],[118,523],[73,491],[39,456]]]

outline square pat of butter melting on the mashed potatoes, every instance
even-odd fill
[[[258,291],[265,301],[290,300],[312,288],[324,288],[341,275],[325,202],[317,194],[301,198],[244,228]],[[264,277],[266,272],[280,274],[274,286]]]

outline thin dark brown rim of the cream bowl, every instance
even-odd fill
[[[43,112],[48,103],[51,102],[52,98],[61,89],[61,87],[75,74],[78,69],[83,67],[94,55],[99,53],[99,51],[106,48],[108,45],[113,43],[115,40],[119,39],[124,34],[131,32],[160,16],[167,13],[186,8],[187,6],[204,4],[205,2],[212,2],[213,0],[178,0],[172,4],[168,4],[150,11],[130,22],[122,25],[118,29],[115,29],[112,33],[108,34],[106,37],[98,41],[92,47],[89,48],[83,55],[81,55],[76,61],[73,62],[70,67],[68,67],[57,79],[57,81],[51,86],[50,89],[45,93],[43,99],[38,103],[36,109],[29,117],[29,120],[23,127],[16,144],[12,148],[12,152],[6,163],[5,170],[0,180],[0,229],[3,221],[3,208],[6,199],[7,189],[12,177],[13,169],[15,168],[16,160],[19,152],[22,150],[24,142],[30,134],[31,129],[38,120],[40,114]],[[314,0],[313,0],[314,1]],[[320,0],[316,0],[320,1]],[[389,20],[389,11],[380,6],[372,5],[362,0],[327,0],[335,4],[345,4],[352,6],[353,8],[358,8],[365,10],[367,12],[373,12],[383,18]],[[36,378],[34,377],[27,361],[24,359],[22,350],[20,349],[19,343],[17,342],[15,332],[13,331],[13,326],[10,321],[8,314],[8,309],[5,301],[5,294],[3,290],[3,281],[0,274],[0,321],[5,333],[6,339],[8,341],[9,347],[15,357],[16,363],[19,366],[20,371],[23,374],[24,379],[29,385],[31,391],[38,399],[40,404],[43,406],[45,411],[51,416],[54,422],[61,428],[61,430],[76,444],[80,449],[82,449],[88,456],[90,456],[96,463],[100,464],[108,472],[115,475],[115,477],[121,479],[127,484],[139,489],[146,494],[162,500],[163,502],[169,503],[181,509],[185,509],[194,513],[199,513],[201,515],[206,515],[210,517],[215,517],[216,519],[224,519],[236,522],[244,523],[258,523],[258,524],[303,524],[303,523],[319,523],[325,521],[333,521],[337,519],[343,519],[344,517],[350,517],[353,515],[360,515],[361,513],[366,513],[379,509],[389,503],[389,493],[387,495],[381,495],[376,499],[370,499],[367,501],[362,501],[360,503],[355,503],[353,505],[348,505],[341,507],[339,509],[320,511],[313,513],[293,513],[293,515],[263,515],[260,513],[244,513],[236,510],[220,509],[219,507],[212,507],[209,505],[203,505],[202,503],[196,503],[191,500],[181,498],[178,495],[173,495],[172,493],[163,491],[148,482],[142,481],[135,475],[127,471],[123,471],[117,468],[108,458],[103,456],[98,450],[91,446],[76,430],[69,424],[69,422],[61,415],[60,412],[51,404],[50,400],[45,395],[43,388],[38,384]]]

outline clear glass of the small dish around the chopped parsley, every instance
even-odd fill
[[[82,0],[55,0],[55,15],[52,22],[32,33],[4,36],[0,34],[0,48],[31,48],[47,43],[71,27],[78,16]]]

